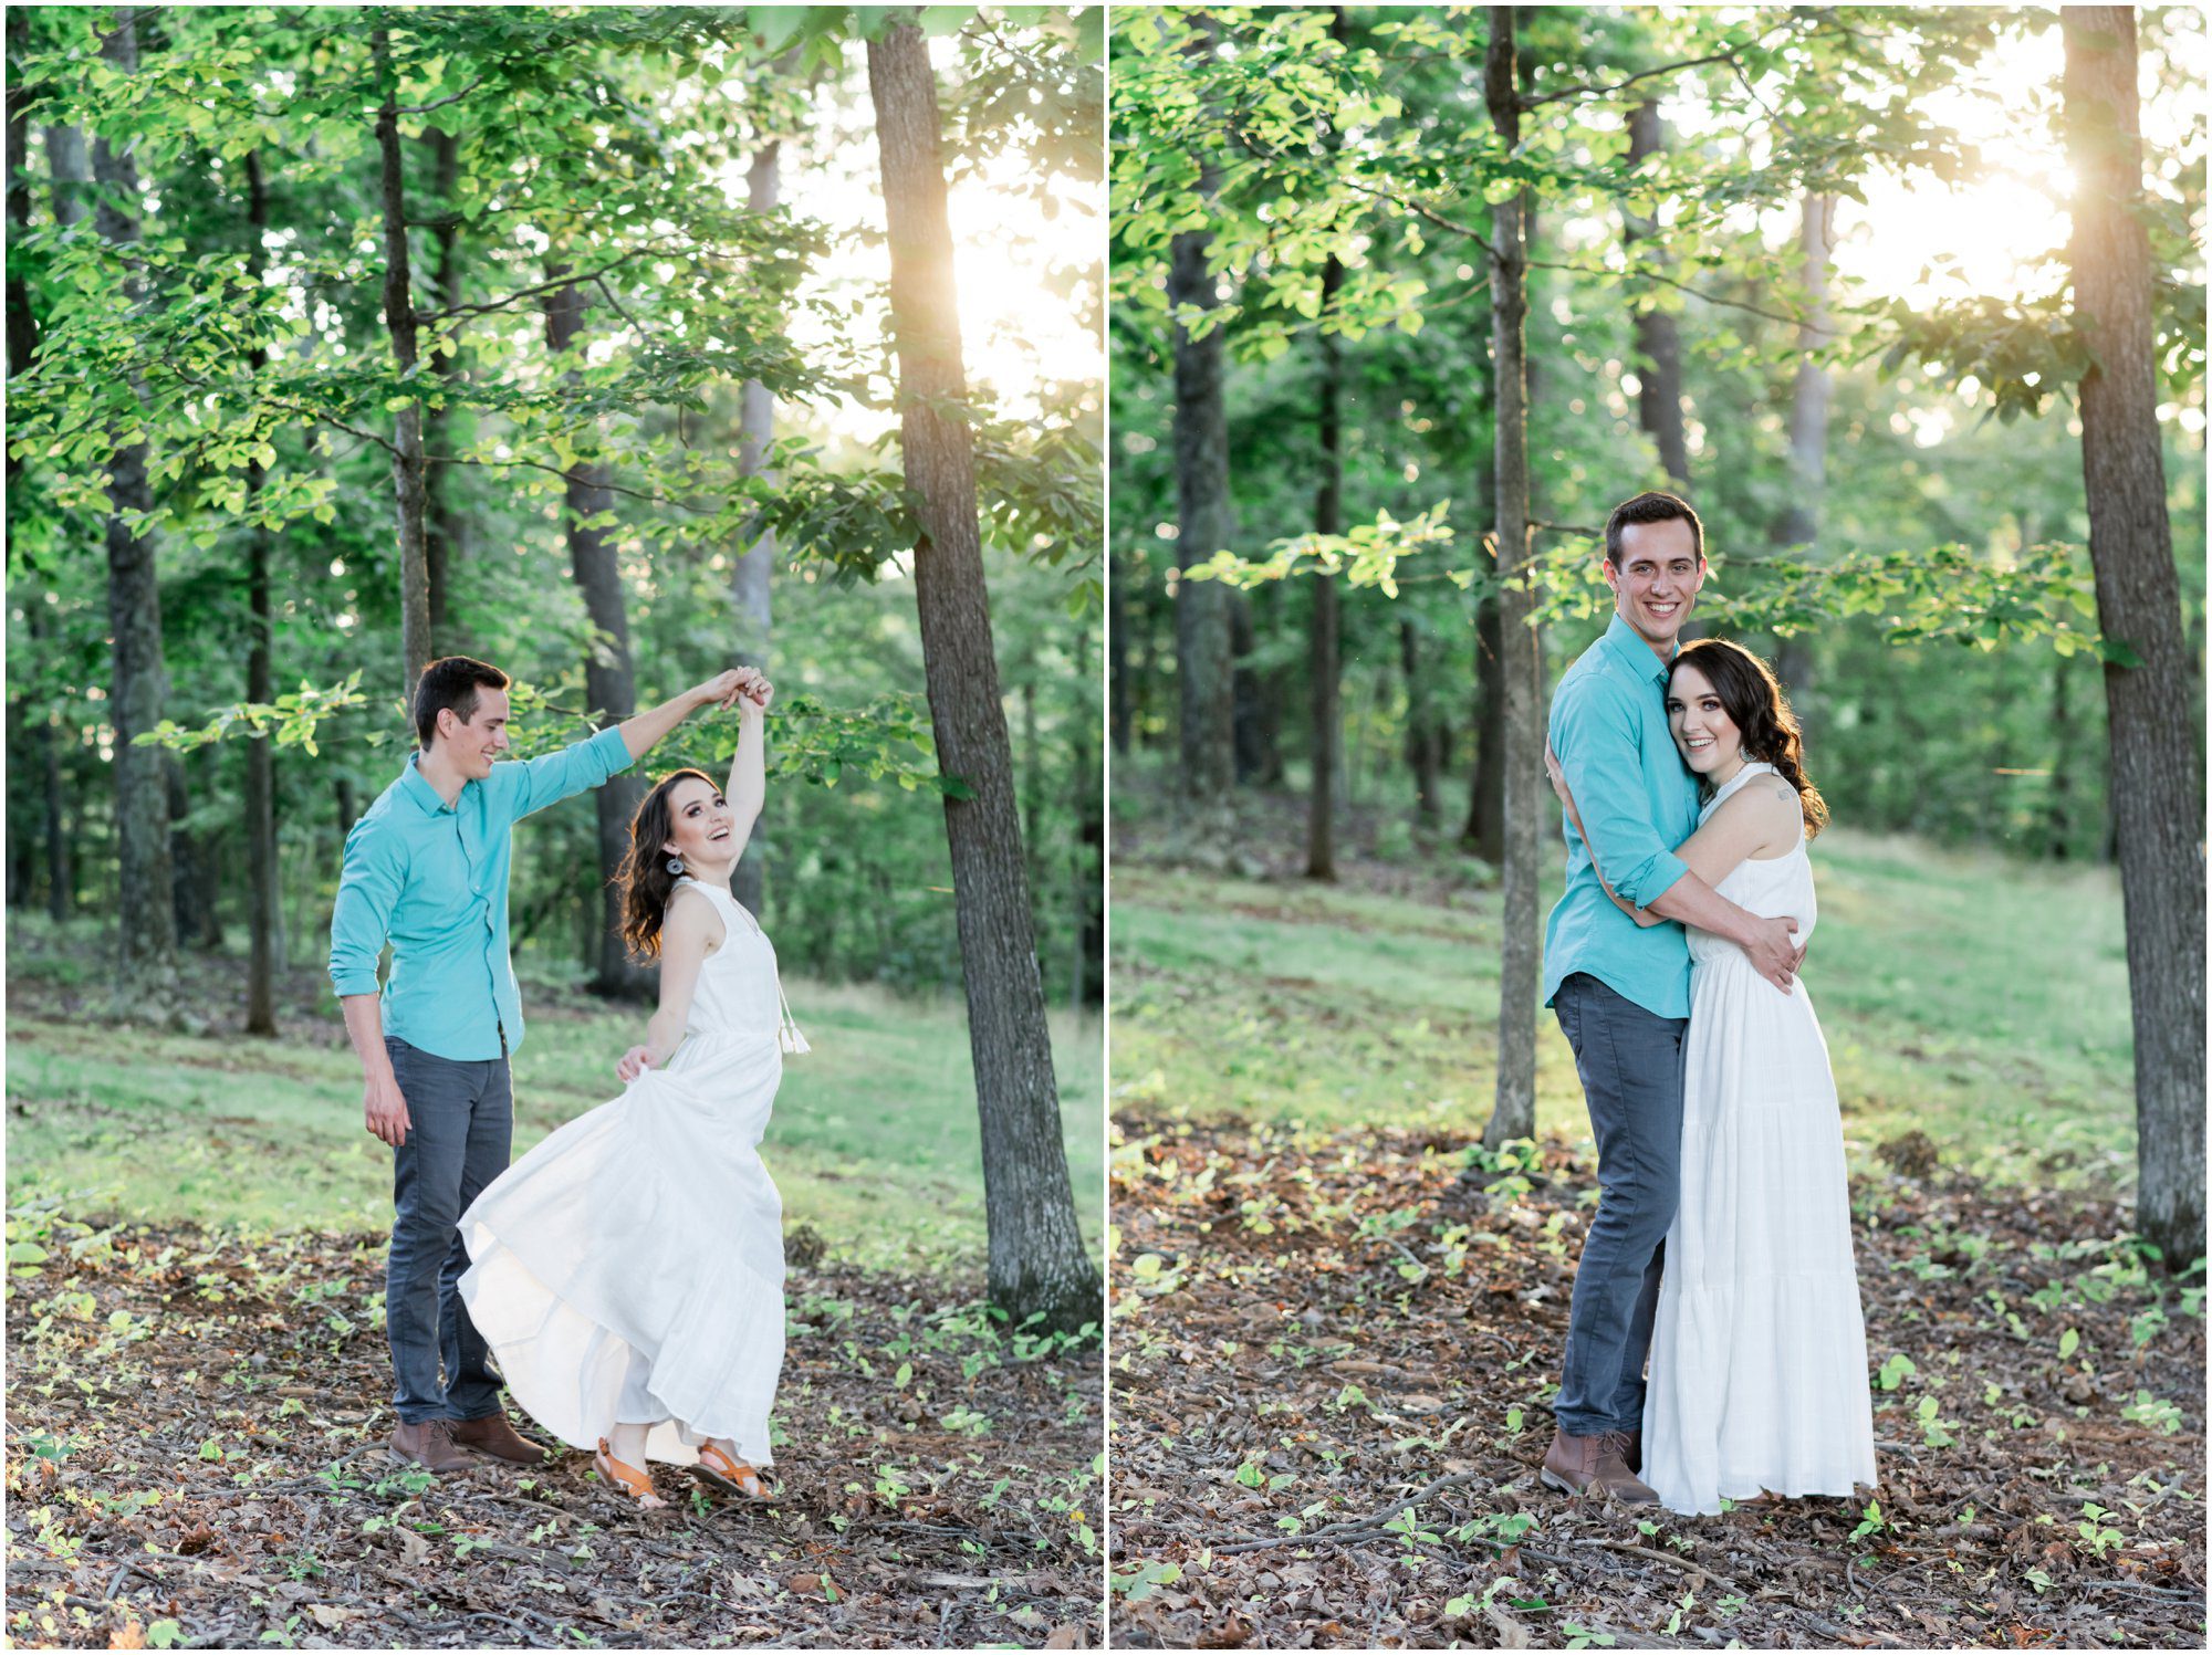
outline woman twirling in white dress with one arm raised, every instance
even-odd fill
[[[759,1144],[805,1051],[776,951],[730,894],[761,814],[774,690],[741,670],[728,794],[679,770],[630,821],[624,940],[661,962],[622,1097],[515,1162],[460,1217],[469,1316],[515,1401],[637,1505],[650,1460],[763,1498],[783,1367],[783,1201]]]

